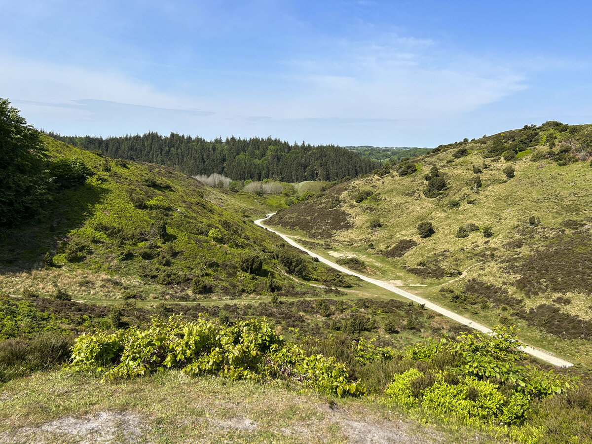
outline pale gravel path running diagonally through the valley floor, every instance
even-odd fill
[[[319,262],[323,262],[324,264],[329,265],[330,267],[333,267],[334,269],[339,270],[342,273],[352,275],[352,276],[357,276],[358,278],[362,279],[363,281],[370,282],[371,284],[378,285],[378,287],[382,287],[384,289],[387,289],[388,291],[392,291],[393,293],[403,296],[404,298],[407,298],[408,300],[416,302],[417,304],[422,304],[426,308],[429,308],[430,310],[433,310],[436,313],[440,313],[443,316],[451,318],[452,320],[454,320],[458,323],[461,323],[461,324],[464,324],[468,327],[471,327],[472,329],[479,330],[480,332],[483,332],[483,333],[491,333],[493,331],[489,327],[484,326],[483,324],[480,324],[477,321],[473,321],[467,317],[461,316],[460,314],[454,313],[453,311],[448,310],[448,308],[441,307],[438,304],[435,304],[433,302],[428,301],[427,299],[424,299],[422,297],[414,295],[413,293],[410,293],[404,289],[395,287],[390,282],[381,281],[379,279],[374,279],[374,278],[369,278],[368,276],[356,273],[355,271],[351,271],[345,267],[342,267],[341,265],[339,265],[335,262],[331,262],[329,259],[325,259],[322,256],[319,256],[316,253],[313,253],[310,250],[305,249],[305,247],[303,247],[299,243],[295,242],[293,239],[291,239],[290,236],[287,236],[287,234],[279,233],[278,231],[272,230],[271,228],[263,225],[263,221],[269,219],[274,214],[275,213],[271,213],[271,214],[266,215],[266,217],[264,217],[262,219],[256,220],[255,225],[262,227],[265,230],[271,231],[272,233],[277,234],[279,237],[284,239],[290,245],[302,250],[303,252],[307,253],[310,256],[313,256],[313,258],[317,258],[319,260]],[[544,350],[536,349],[531,346],[523,346],[520,348],[520,350],[522,350],[525,353],[528,353],[531,356],[535,356],[535,358],[538,358],[541,361],[548,362],[548,363],[558,366],[558,367],[571,367],[572,365],[574,365],[571,362],[568,362],[568,361],[565,361],[564,359],[558,358],[557,356],[553,355],[552,353],[545,352]]]

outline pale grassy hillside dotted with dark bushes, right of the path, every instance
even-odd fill
[[[590,362],[591,140],[590,125],[551,122],[440,146],[270,223],[320,240],[327,257],[356,256],[368,273],[490,325],[516,323],[531,342]],[[428,237],[423,222],[433,225]]]

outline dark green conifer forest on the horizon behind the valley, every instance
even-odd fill
[[[282,182],[337,181],[368,173],[379,162],[335,145],[289,144],[280,139],[218,137],[205,140],[170,133],[143,136],[60,136],[54,139],[76,147],[99,151],[105,156],[137,162],[158,163],[185,173],[218,173],[235,181],[274,179]]]

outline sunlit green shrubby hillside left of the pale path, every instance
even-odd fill
[[[54,191],[37,221],[3,231],[0,291],[188,301],[308,287],[278,269],[275,237],[252,224],[283,200],[217,190],[163,166],[43,141],[50,165],[82,165],[88,178]],[[310,263],[313,281],[316,269]]]

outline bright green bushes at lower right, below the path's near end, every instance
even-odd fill
[[[411,362],[427,363],[394,375],[385,395],[406,407],[422,406],[438,416],[520,424],[530,400],[560,394],[573,381],[553,371],[517,363],[520,343],[512,329],[463,333],[456,340],[428,340],[407,348]],[[426,368],[422,364],[420,368]],[[419,387],[414,390],[414,387]]]

